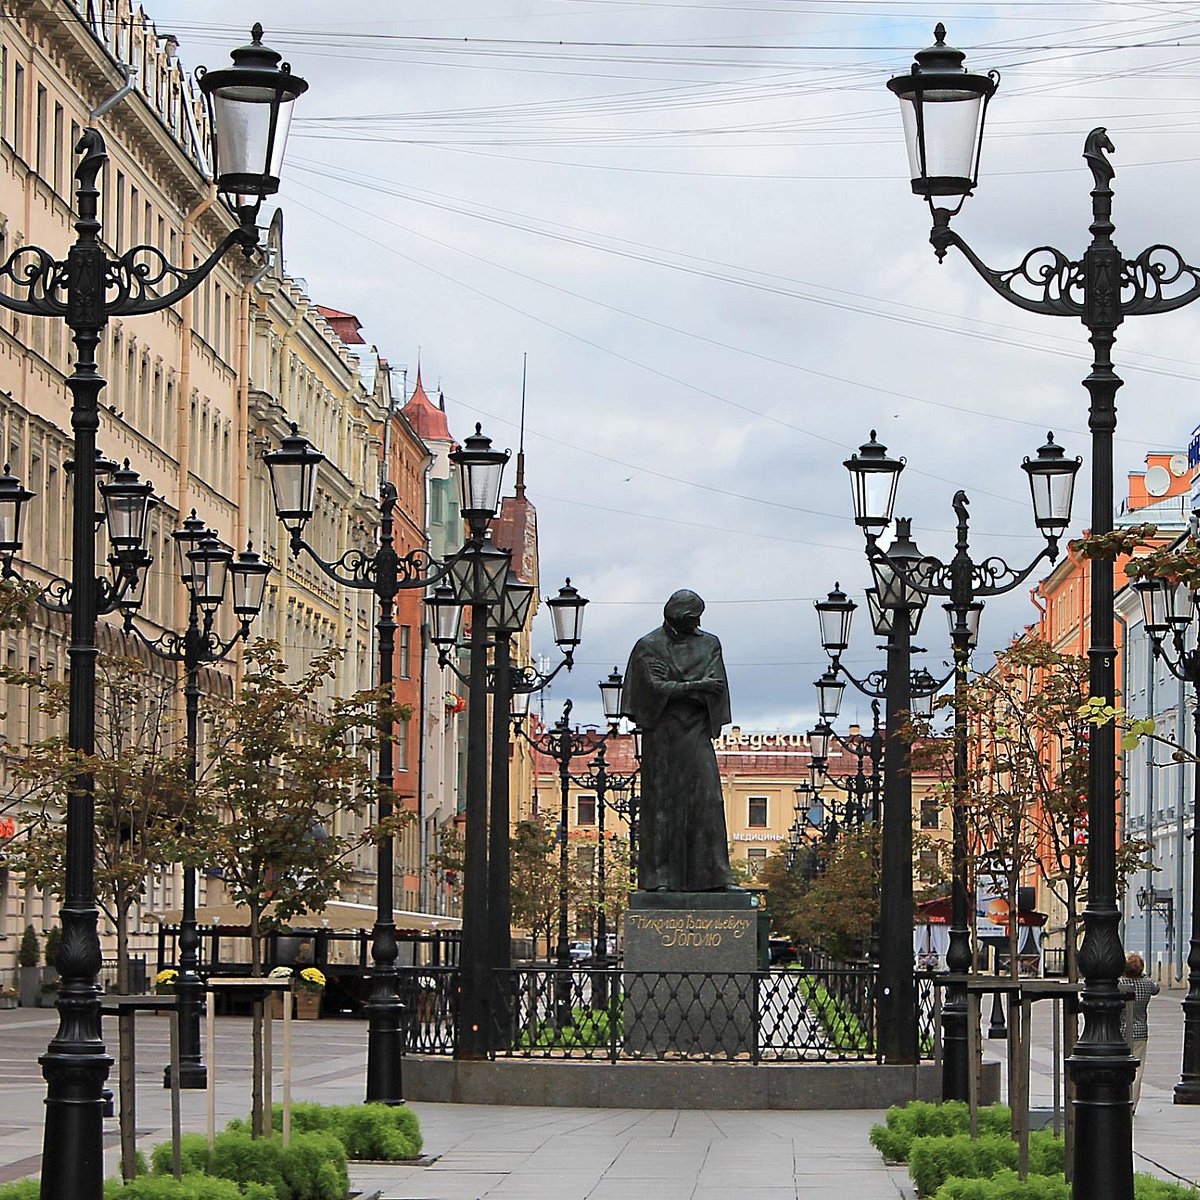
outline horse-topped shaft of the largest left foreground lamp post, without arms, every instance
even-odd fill
[[[100,245],[100,192],[96,176],[106,161],[104,143],[89,130],[76,168],[78,220],[67,253],[67,313],[76,347],[71,391],[74,433],[72,472],[71,664],[67,739],[91,756],[96,742],[96,430],[104,379],[96,370],[96,347],[104,328],[107,259]],[[113,1060],[100,1028],[100,934],[95,858],[96,802],[90,773],[76,775],[67,791],[66,871],[60,922],[59,1027],[38,1060],[46,1078],[42,1139],[43,1200],[100,1200],[103,1193],[102,1091]]]

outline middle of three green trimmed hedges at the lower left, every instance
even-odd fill
[[[242,1188],[265,1184],[274,1200],[346,1200],[350,1190],[346,1151],[330,1133],[294,1133],[284,1150],[278,1138],[251,1138],[241,1129],[227,1129],[217,1134],[211,1151],[199,1134],[182,1138],[180,1151],[185,1172],[220,1176]],[[156,1176],[170,1174],[170,1157],[169,1142],[155,1146],[151,1169]]]

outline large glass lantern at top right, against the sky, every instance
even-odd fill
[[[946,44],[943,25],[934,37],[935,44],[917,52],[906,74],[888,80],[900,101],[912,190],[930,202],[974,190],[988,102],[1000,82],[995,72],[967,71],[966,55]]]

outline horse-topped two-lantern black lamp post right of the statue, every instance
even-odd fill
[[[874,431],[871,440],[875,440]],[[947,984],[946,1003],[942,1006],[942,1099],[966,1100],[971,1079],[966,989],[966,974],[971,970],[971,931],[967,926],[967,667],[971,652],[979,640],[984,598],[1012,592],[1028,578],[1043,559],[1054,562],[1058,557],[1058,539],[1070,524],[1075,474],[1081,460],[1067,458],[1062,446],[1055,445],[1054,434],[1046,436],[1046,444],[1038,450],[1034,460],[1025,460],[1022,469],[1030,480],[1034,523],[1046,544],[1022,570],[1009,566],[1000,558],[980,562],[972,558],[968,500],[962,491],[954,494],[953,508],[958,523],[955,553],[949,562],[943,563],[930,556],[898,559],[881,550],[878,529],[892,518],[890,505],[895,502],[896,484],[904,469],[902,460],[889,461],[894,463],[894,468],[893,479],[887,487],[870,486],[881,474],[877,456],[851,458],[847,466],[854,475],[854,517],[866,538],[868,554],[872,566],[877,568],[876,577],[886,581],[881,588],[902,587],[925,596],[946,596],[948,600],[944,608],[954,650],[954,866],[950,886],[950,943],[946,954],[952,982]],[[876,480],[864,479],[864,474],[874,474]]]

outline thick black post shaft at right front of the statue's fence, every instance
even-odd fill
[[[912,632],[907,608],[894,612],[888,640],[887,749],[880,872],[880,1050],[888,1064],[917,1062],[917,985],[912,962]]]

